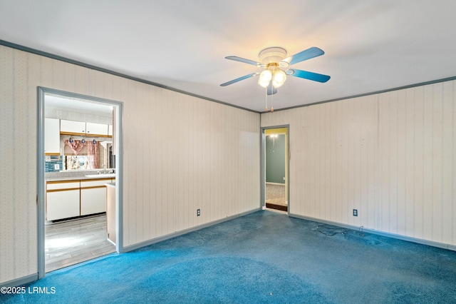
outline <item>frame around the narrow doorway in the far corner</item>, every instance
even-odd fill
[[[279,126],[264,126],[261,127],[261,149],[260,149],[260,208],[262,210],[266,209],[266,130],[271,130],[275,128],[286,128],[286,198],[288,200],[287,204],[287,213],[290,215],[290,125],[279,125]]]

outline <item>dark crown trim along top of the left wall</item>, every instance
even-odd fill
[[[180,90],[178,88],[172,88],[171,86],[165,86],[163,84],[156,83],[156,82],[153,82],[153,81],[147,81],[147,80],[142,79],[142,78],[133,77],[133,76],[129,76],[127,74],[122,74],[122,73],[119,73],[119,72],[116,72],[116,71],[112,71],[112,70],[109,70],[109,69],[100,68],[99,66],[93,66],[92,64],[85,64],[82,61],[68,59],[68,58],[63,57],[63,56],[54,55],[54,54],[51,54],[51,53],[48,53],[48,52],[45,52],[45,51],[39,51],[37,49],[32,49],[32,48],[29,48],[27,46],[21,46],[20,44],[14,44],[14,43],[9,42],[9,41],[4,41],[4,40],[0,39],[0,46],[7,46],[7,47],[9,47],[11,49],[17,49],[19,51],[26,51],[26,52],[31,53],[31,54],[36,54],[36,55],[47,57],[47,58],[50,58],[50,59],[56,59],[58,61],[63,61],[63,62],[66,62],[68,64],[75,64],[76,66],[82,66],[82,67],[87,68],[87,69],[92,69],[92,70],[95,70],[95,71],[100,71],[100,72],[111,74],[111,75],[114,75],[114,76],[127,78],[127,79],[130,79],[130,80],[133,80],[133,81],[138,81],[140,83],[146,83],[146,84],[149,84],[151,86],[158,86],[160,88],[166,88],[167,90],[170,90],[170,91],[175,91],[177,93],[182,93],[182,94],[193,96],[193,97],[196,97],[196,98],[205,99],[207,101],[212,101],[214,103],[222,103],[225,106],[232,106],[233,108],[240,108],[242,110],[249,111],[249,112],[254,112],[254,113],[261,113],[259,111],[254,111],[254,110],[252,110],[250,108],[244,108],[242,106],[235,106],[235,105],[233,105],[231,103],[226,103],[224,101],[218,101],[217,99],[204,97],[204,96],[197,95],[197,94],[194,94],[194,93],[182,91],[182,90]]]

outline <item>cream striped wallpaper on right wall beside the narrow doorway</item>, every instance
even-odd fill
[[[456,248],[455,86],[261,114],[290,125],[290,213]]]

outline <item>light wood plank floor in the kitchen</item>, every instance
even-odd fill
[[[106,216],[48,224],[46,273],[115,252],[106,232]]]

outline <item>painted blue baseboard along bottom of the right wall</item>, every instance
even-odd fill
[[[387,233],[387,232],[383,232],[380,230],[364,228],[363,226],[360,227],[360,226],[353,226],[353,225],[348,225],[348,224],[344,224],[344,223],[337,223],[337,222],[333,222],[333,221],[325,221],[325,220],[321,220],[320,218],[311,218],[310,216],[299,216],[298,214],[290,214],[289,216],[291,216],[292,218],[301,218],[302,220],[306,220],[306,221],[314,221],[317,223],[324,223],[324,224],[338,226],[338,227],[347,228],[347,229],[351,229],[351,230],[362,231],[364,233],[372,233],[375,235],[386,236],[388,238],[406,240],[406,241],[412,242],[412,243],[418,243],[418,244],[422,244],[422,245],[428,245],[428,246],[432,246],[432,247],[456,251],[456,245],[451,245],[451,244],[447,244],[447,243],[434,242],[432,240],[424,240],[423,238],[412,238],[410,236],[399,235],[399,234],[395,234],[395,233]]]

